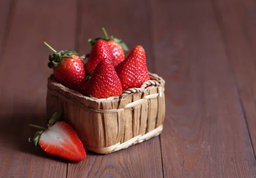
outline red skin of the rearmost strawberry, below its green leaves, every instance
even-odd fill
[[[116,67],[116,65],[118,65],[120,62],[125,60],[125,51],[114,40],[107,40],[106,42],[107,42],[109,49],[113,55],[113,65],[114,65],[114,67]]]

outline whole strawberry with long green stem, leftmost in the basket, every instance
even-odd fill
[[[53,68],[53,75],[57,82],[70,89],[77,90],[79,85],[85,81],[84,62],[76,51],[55,51],[50,45],[44,42],[54,54],[49,55],[48,67]]]

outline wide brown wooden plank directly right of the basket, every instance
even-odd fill
[[[156,71],[166,80],[164,177],[253,177],[253,148],[211,2],[152,1],[152,13]]]

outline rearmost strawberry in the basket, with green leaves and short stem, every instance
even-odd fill
[[[125,45],[122,40],[119,40],[112,35],[108,36],[105,28],[102,28],[102,31],[105,34],[105,37],[98,37],[94,40],[89,39],[88,42],[93,46],[98,40],[105,40],[113,54],[113,65],[116,67],[116,65],[125,59],[125,51],[128,51],[127,45]]]

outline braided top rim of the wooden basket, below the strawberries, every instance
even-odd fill
[[[154,88],[154,87],[157,87],[157,86],[162,86],[164,88],[165,80],[162,77],[158,76],[155,73],[150,73],[150,72],[149,72],[149,76],[150,76],[151,79],[155,79],[155,80],[148,80],[148,81],[143,83],[144,86],[150,85],[149,87],[147,87],[147,88],[142,88],[142,87],[141,88],[130,88],[128,90],[125,90],[122,93],[121,96],[111,96],[111,97],[106,98],[106,99],[97,99],[97,98],[94,98],[94,97],[85,96],[85,95],[83,95],[82,93],[80,93],[76,90],[72,90],[70,88],[67,88],[66,86],[62,85],[61,83],[57,82],[54,79],[53,73],[50,74],[50,76],[48,77],[47,88],[48,88],[48,90],[52,90],[52,87],[50,87],[49,85],[53,84],[53,85],[57,85],[58,88],[60,88],[61,90],[64,90],[65,92],[68,92],[68,93],[72,93],[73,95],[79,96],[81,98],[89,99],[89,100],[95,101],[95,102],[104,102],[104,101],[110,101],[110,100],[120,100],[120,99],[123,99],[123,98],[127,97],[128,95],[132,95],[134,93],[139,93],[139,92],[144,92],[145,90],[149,90],[150,88]],[[56,90],[56,91],[58,91],[58,90]]]

